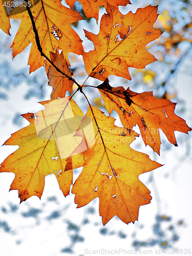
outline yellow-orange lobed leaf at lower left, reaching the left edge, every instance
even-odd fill
[[[69,195],[73,173],[72,170],[64,172],[66,158],[81,142],[81,138],[73,138],[77,130],[74,118],[84,116],[75,101],[69,99],[65,97],[40,102],[46,109],[35,115],[22,115],[30,125],[12,134],[5,142],[5,145],[19,146],[1,164],[0,173],[15,174],[10,190],[18,189],[20,202],[31,196],[40,198],[45,176],[49,174],[56,176],[63,195]],[[65,127],[64,131],[62,127]]]

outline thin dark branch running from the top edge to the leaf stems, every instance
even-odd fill
[[[36,26],[35,26],[35,22],[34,22],[34,18],[33,18],[33,15],[32,15],[32,12],[30,10],[30,7],[28,6],[28,0],[26,0],[26,3],[27,3],[27,11],[29,13],[29,16],[30,16],[30,19],[31,19],[31,23],[32,23],[32,26],[33,26],[33,31],[35,33],[35,41],[36,41],[36,45],[37,45],[37,49],[39,50],[40,52],[40,55],[41,56],[44,56],[50,63],[51,65],[56,69],[57,72],[61,73],[63,76],[66,76],[69,80],[73,81],[75,84],[77,84],[78,86],[78,89],[77,91],[80,91],[82,93],[82,88],[80,86],[80,84],[78,84],[75,79],[73,79],[72,77],[68,76],[67,74],[63,73],[59,68],[57,68],[55,66],[55,64],[51,61],[51,59],[49,59],[47,57],[47,55],[45,55],[44,52],[42,52],[42,47],[40,45],[40,40],[39,40],[39,36],[38,36],[38,32],[37,32],[37,29],[36,29]]]

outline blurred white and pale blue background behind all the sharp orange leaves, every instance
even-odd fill
[[[62,4],[67,6],[64,1]],[[158,5],[160,14],[156,28],[164,31],[156,41],[146,46],[158,61],[145,69],[130,68],[132,80],[110,76],[113,87],[141,93],[153,91],[158,98],[177,102],[175,113],[192,126],[192,2],[189,0],[133,0],[132,5],[119,7],[122,14],[135,12],[137,8]],[[82,6],[76,1],[74,9],[81,15]],[[104,8],[100,8],[101,18]],[[12,59],[10,48],[20,21],[11,19],[11,36],[0,31],[0,144],[10,135],[29,125],[20,114],[35,113],[42,108],[39,101],[50,99],[52,88],[44,68],[29,75],[27,66],[31,45]],[[92,42],[85,36],[83,29],[98,34],[99,22],[90,18],[72,25],[83,40],[84,51],[94,49]],[[87,78],[82,56],[69,54],[71,71],[80,84]],[[101,81],[89,78],[87,85],[98,86]],[[74,92],[76,88],[74,86]],[[104,109],[101,95],[93,88],[84,92],[90,102],[108,114]],[[67,96],[70,94],[68,93]],[[81,110],[86,114],[88,105],[80,93],[75,95]],[[116,112],[112,116],[121,125]],[[136,126],[134,128],[139,133]],[[0,255],[85,255],[88,250],[124,249],[142,251],[140,254],[163,254],[165,249],[176,249],[183,254],[184,249],[191,248],[192,207],[191,207],[191,133],[189,135],[175,132],[178,147],[170,144],[163,132],[161,135],[160,156],[144,145],[137,138],[131,147],[150,155],[152,160],[164,164],[161,168],[139,176],[151,191],[152,202],[141,206],[139,218],[129,225],[114,217],[105,226],[99,216],[99,200],[93,200],[83,208],[76,209],[74,195],[65,198],[59,189],[54,175],[46,177],[45,189],[41,200],[33,196],[19,204],[18,191],[9,192],[14,174],[0,174]],[[140,136],[141,137],[141,136]],[[0,163],[14,152],[18,146],[1,146]],[[82,168],[74,170],[74,182]],[[183,250],[183,251],[182,251]],[[189,251],[188,251],[189,252]],[[90,254],[89,253],[89,254]],[[96,253],[96,254],[99,254]],[[131,254],[128,253],[127,254]],[[133,254],[133,253],[132,253]]]

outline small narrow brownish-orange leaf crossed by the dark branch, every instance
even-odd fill
[[[71,72],[68,67],[66,58],[63,53],[60,54],[50,52],[51,61],[59,68],[63,73],[71,77]],[[49,86],[51,86],[52,93],[51,99],[57,99],[58,97],[65,97],[66,92],[73,92],[73,81],[69,80],[68,77],[63,76],[61,73],[57,72],[56,69],[51,65],[47,70],[47,76],[49,79]]]

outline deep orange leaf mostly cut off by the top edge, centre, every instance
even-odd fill
[[[69,5],[71,9],[73,9],[73,5],[76,0],[66,0],[66,3]],[[126,6],[127,4],[131,4],[129,0],[79,0],[81,3],[84,14],[86,14],[87,18],[95,18],[98,20],[99,16],[99,6],[103,6],[105,9],[108,4],[115,6]]]

